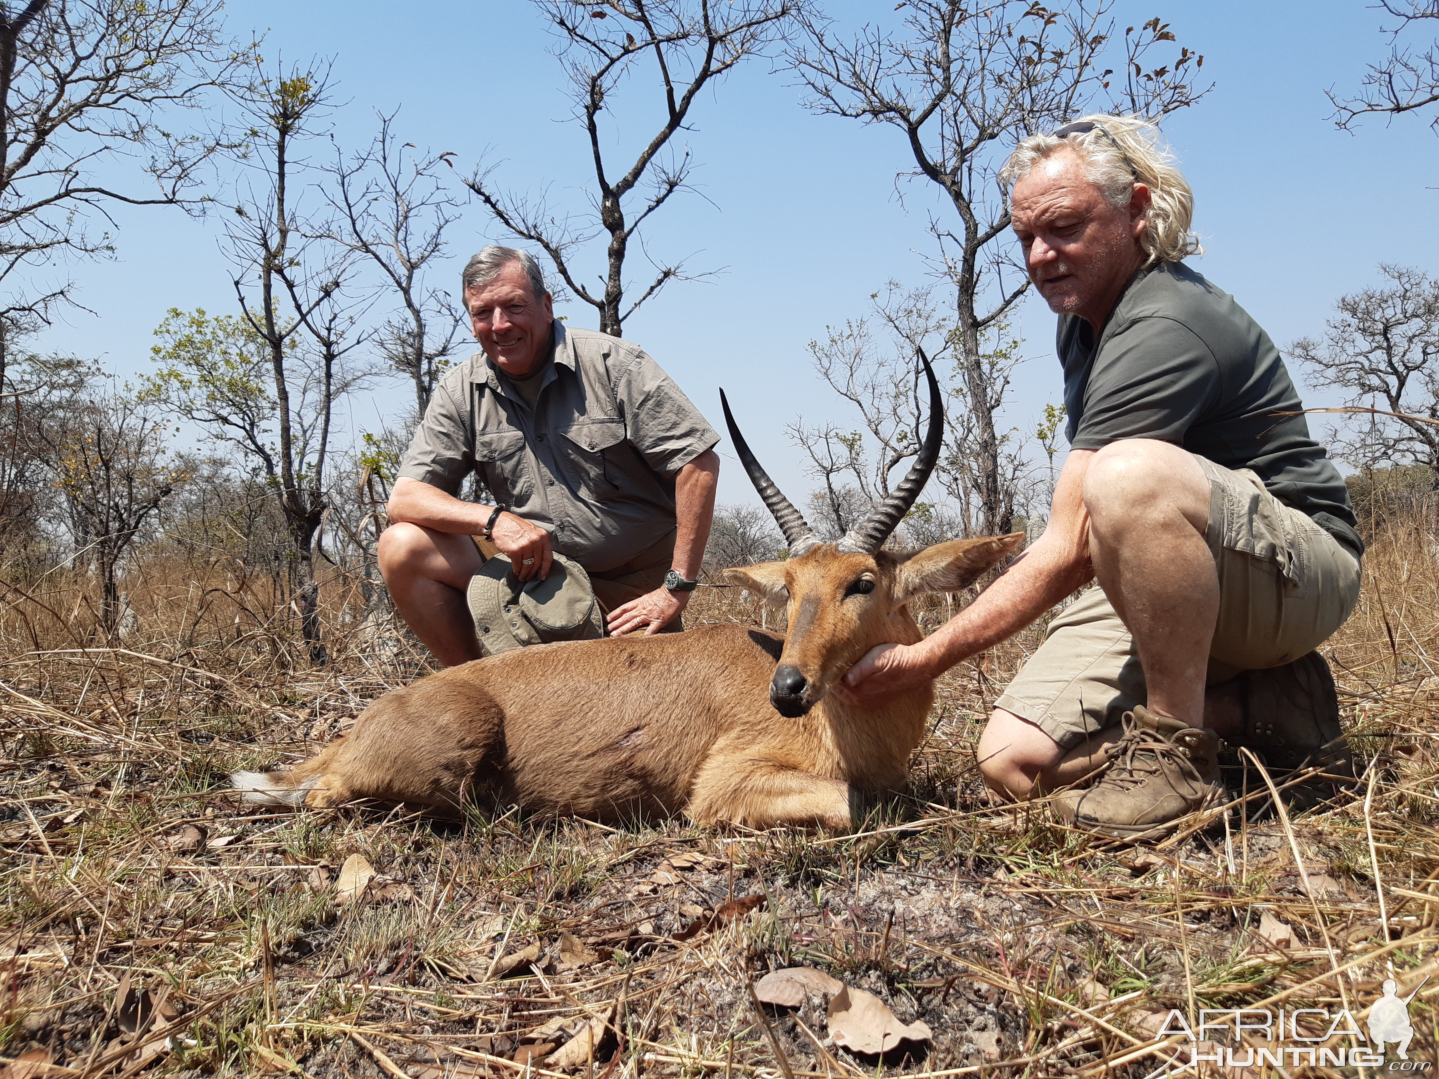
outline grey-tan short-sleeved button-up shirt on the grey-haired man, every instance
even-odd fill
[[[642,348],[554,322],[534,410],[475,352],[435,387],[400,475],[495,499],[604,573],[675,531],[675,473],[720,436]]]

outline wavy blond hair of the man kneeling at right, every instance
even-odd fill
[[[1099,188],[1109,206],[1128,206],[1134,184],[1150,188],[1150,210],[1140,236],[1140,247],[1147,256],[1145,266],[1203,253],[1199,237],[1189,229],[1194,220],[1194,191],[1184,174],[1174,167],[1174,154],[1164,144],[1158,128],[1143,117],[1111,117],[1102,112],[1072,122],[1094,124],[1094,128],[1062,138],[1030,135],[1014,147],[999,171],[1000,184],[1006,190],[1013,188],[1016,181],[1046,157],[1061,147],[1071,147],[1085,164],[1085,178]]]

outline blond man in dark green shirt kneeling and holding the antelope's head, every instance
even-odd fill
[[[1059,813],[1140,837],[1223,797],[1220,738],[1271,768],[1343,777],[1314,649],[1357,603],[1363,545],[1274,344],[1183,263],[1197,250],[1189,184],[1132,117],[1026,138],[1000,178],[1061,317],[1071,452],[1029,552],[924,642],[871,650],[846,685],[876,706],[1097,578],[996,702],[979,745],[991,788],[1027,798],[1098,774]]]

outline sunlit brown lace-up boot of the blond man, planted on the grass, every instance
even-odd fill
[[[1089,832],[1154,837],[1186,813],[1223,798],[1219,735],[1138,706],[1124,714],[1124,737],[1109,767],[1085,790],[1055,798],[1059,816]]]

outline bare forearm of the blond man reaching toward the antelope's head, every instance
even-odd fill
[[[917,647],[934,673],[1007,640],[1069,593],[1094,580],[1088,560],[1058,544],[1036,544],[968,607]]]

